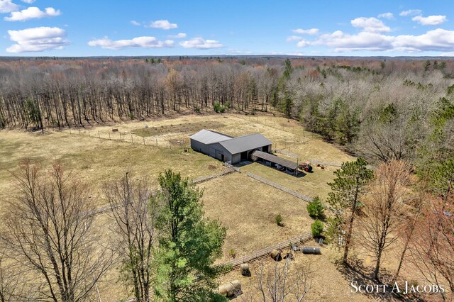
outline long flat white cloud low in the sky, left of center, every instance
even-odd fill
[[[174,42],[172,40],[160,41],[155,37],[137,37],[131,40],[111,40],[107,37],[102,39],[94,39],[88,42],[90,46],[99,46],[109,50],[123,50],[129,47],[143,47],[143,48],[161,48],[172,47]]]

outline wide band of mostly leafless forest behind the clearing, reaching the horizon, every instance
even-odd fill
[[[453,144],[452,60],[48,58],[4,60],[0,77],[0,128],[273,108],[370,160],[443,159]]]

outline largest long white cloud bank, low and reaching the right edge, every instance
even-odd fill
[[[337,30],[333,33],[321,35],[318,40],[301,40],[298,47],[309,45],[325,45],[332,47],[336,52],[368,50],[368,51],[443,51],[454,49],[454,30],[438,28],[429,30],[422,35],[384,35],[382,33],[361,33],[350,35]]]

